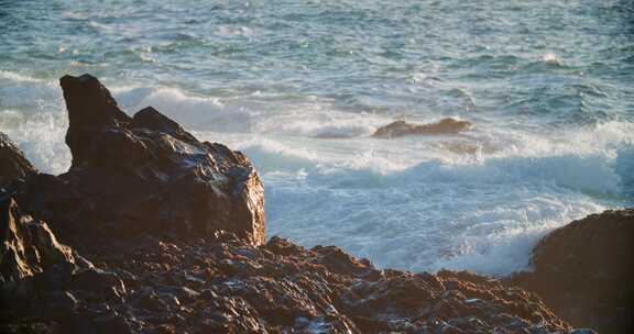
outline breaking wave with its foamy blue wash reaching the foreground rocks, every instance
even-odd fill
[[[270,235],[341,245],[381,267],[507,275],[526,269],[553,229],[632,202],[626,129],[603,124],[526,156],[510,149],[412,165],[375,151],[342,158],[275,142],[242,149],[263,172]]]

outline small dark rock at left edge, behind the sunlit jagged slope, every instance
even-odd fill
[[[0,132],[0,188],[12,180],[24,179],[36,174],[35,167],[9,137]]]

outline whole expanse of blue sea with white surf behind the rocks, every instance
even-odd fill
[[[381,267],[506,275],[634,203],[627,0],[0,0],[0,131],[43,171],[69,166],[57,79],[84,73],[243,151],[270,236]],[[473,127],[370,137],[447,116]]]

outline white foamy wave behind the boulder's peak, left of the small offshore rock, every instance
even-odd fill
[[[384,118],[336,110],[330,102],[306,98],[285,104],[284,96],[218,98],[176,88],[123,87],[113,89],[127,110],[152,105],[188,129],[228,133],[274,133],[316,138],[368,136]],[[282,102],[282,103],[281,103]]]

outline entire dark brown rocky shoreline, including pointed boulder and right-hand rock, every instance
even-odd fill
[[[61,85],[67,172],[37,172],[0,136],[0,333],[632,329],[631,210],[554,232],[535,271],[504,280],[381,270],[335,246],[266,242],[244,155],[153,108],[128,116],[95,77]]]

